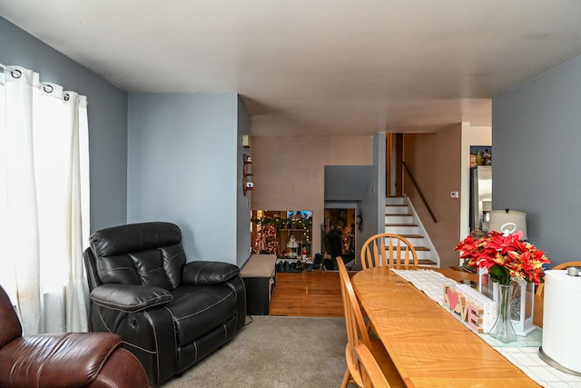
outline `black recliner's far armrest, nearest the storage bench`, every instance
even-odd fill
[[[190,285],[221,284],[240,274],[234,264],[222,262],[190,262],[183,267],[182,283]]]

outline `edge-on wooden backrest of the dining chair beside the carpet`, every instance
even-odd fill
[[[345,347],[345,358],[347,360],[347,366],[349,367],[351,377],[353,377],[353,380],[361,386],[363,381],[361,379],[361,374],[359,373],[359,364],[355,358],[354,349],[361,343],[368,347],[371,343],[369,333],[365,326],[365,321],[363,320],[363,313],[361,312],[359,301],[355,296],[355,290],[353,290],[353,284],[351,284],[347,267],[345,267],[341,257],[337,257],[337,266],[339,267],[341,296],[343,298],[345,325],[347,327],[348,341],[347,346]]]

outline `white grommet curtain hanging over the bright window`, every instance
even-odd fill
[[[25,334],[86,332],[86,97],[1,67],[0,284]]]

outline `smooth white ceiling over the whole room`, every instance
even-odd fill
[[[581,55],[579,0],[0,0],[0,15],[128,92],[239,93],[261,135],[488,126],[490,97]]]

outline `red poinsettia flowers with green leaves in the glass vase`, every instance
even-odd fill
[[[543,264],[550,261],[535,245],[520,241],[519,234],[489,232],[481,238],[468,235],[456,248],[468,266],[487,268],[490,279],[498,284],[526,280],[539,284],[545,281]]]

